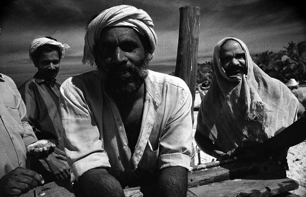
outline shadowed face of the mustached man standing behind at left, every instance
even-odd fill
[[[57,50],[43,51],[38,59],[38,72],[45,80],[54,79],[60,70],[60,58]]]

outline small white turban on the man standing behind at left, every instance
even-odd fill
[[[29,55],[31,60],[33,61],[33,54],[36,51],[36,49],[44,44],[52,44],[55,46],[58,46],[60,48],[60,51],[62,53],[61,58],[64,57],[65,54],[65,49],[70,48],[70,46],[68,44],[62,44],[60,42],[57,42],[55,40],[52,39],[48,39],[48,38],[37,38],[34,39],[30,45],[30,49],[29,49]]]

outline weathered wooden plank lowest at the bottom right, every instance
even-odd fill
[[[271,196],[298,188],[298,182],[289,178],[256,180],[234,179],[189,188],[197,196]]]

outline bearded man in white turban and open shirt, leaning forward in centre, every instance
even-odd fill
[[[180,78],[148,70],[157,36],[132,6],[101,12],[87,27],[83,63],[97,66],[61,86],[67,160],[87,196],[185,196],[191,93]]]

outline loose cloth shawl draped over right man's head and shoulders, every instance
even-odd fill
[[[245,53],[246,73],[228,78],[220,62],[220,47],[237,41]],[[246,142],[263,142],[297,119],[298,101],[281,81],[271,78],[255,63],[246,45],[237,38],[224,38],[213,55],[214,76],[203,98],[197,131],[210,138],[223,152]]]

